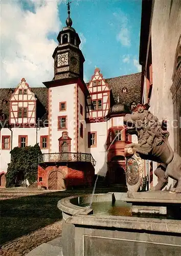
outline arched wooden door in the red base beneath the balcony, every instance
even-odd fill
[[[50,190],[65,190],[65,180],[63,175],[58,170],[54,170],[49,175],[49,189]]]

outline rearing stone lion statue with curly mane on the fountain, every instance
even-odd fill
[[[128,144],[127,147],[133,147],[142,159],[160,163],[154,171],[158,177],[154,190],[161,190],[171,177],[177,181],[171,191],[181,193],[181,157],[173,152],[168,142],[169,132],[162,130],[159,119],[148,109],[147,104],[138,104],[132,114],[124,117],[127,132],[138,136],[138,143]]]

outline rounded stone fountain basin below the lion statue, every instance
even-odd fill
[[[95,215],[92,195],[64,198],[58,202],[63,214],[63,256],[150,256],[181,254],[181,221],[127,216]],[[94,195],[94,202],[128,200],[126,193]]]

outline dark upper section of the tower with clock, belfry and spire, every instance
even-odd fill
[[[70,2],[68,6],[68,17],[66,27],[59,32],[57,40],[59,45],[53,53],[54,58],[54,79],[80,77],[83,79],[84,56],[79,49],[81,43],[79,35],[72,27],[70,17]]]

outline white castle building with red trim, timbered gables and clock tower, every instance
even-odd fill
[[[53,80],[32,88],[22,78],[15,89],[0,89],[0,186],[5,185],[11,149],[35,143],[43,153],[40,187],[92,186],[95,175],[124,186],[124,147],[132,137],[123,117],[140,101],[141,73],[104,79],[96,68],[86,84],[70,12],[57,39]]]

